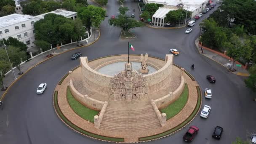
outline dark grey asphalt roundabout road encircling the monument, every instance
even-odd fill
[[[109,0],[107,13],[117,15],[119,4]],[[137,4],[125,2],[131,10],[135,8],[135,19],[139,19]],[[237,136],[245,139],[248,134],[256,131],[256,103],[252,101],[251,91],[245,87],[243,77],[227,71],[216,62],[201,56],[195,48],[195,39],[199,35],[199,23],[209,13],[196,21],[193,31],[185,34],[187,27],[182,29],[151,29],[136,28],[136,39],[129,40],[135,48],[131,54],[148,53],[151,56],[165,58],[170,48],[177,48],[179,56],[174,56],[174,63],[184,67],[200,84],[202,89],[211,88],[213,99],[203,97],[203,105],[211,106],[207,119],[197,115],[189,125],[197,125],[200,129],[194,144],[231,144]],[[107,19],[109,19],[108,17]],[[79,65],[78,60],[70,60],[70,56],[80,51],[88,59],[101,56],[127,53],[128,40],[119,40],[120,28],[110,27],[107,19],[101,24],[101,37],[93,45],[76,49],[55,56],[38,65],[25,74],[13,85],[5,98],[4,109],[0,111],[0,143],[1,144],[101,144],[107,143],[82,136],[72,131],[59,120],[53,109],[53,91],[58,81],[70,69]],[[195,69],[190,69],[191,64]],[[216,83],[206,81],[206,75],[216,77]],[[37,86],[45,82],[48,88],[42,95],[36,94]],[[224,133],[221,140],[211,138],[213,128],[222,126]],[[185,144],[182,136],[187,127],[178,133],[149,144]]]

